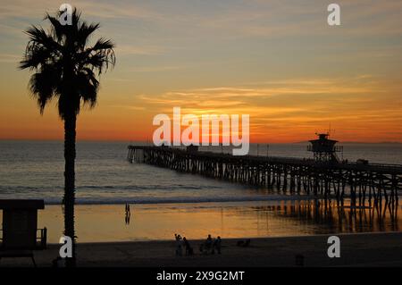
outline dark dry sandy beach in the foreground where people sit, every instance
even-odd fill
[[[175,256],[174,241],[80,243],[78,265],[93,266],[295,266],[296,255],[305,266],[402,266],[402,232],[339,234],[340,257],[327,256],[329,235],[251,239],[249,247],[238,247],[240,239],[223,239],[221,255],[200,255],[202,240],[190,240],[194,256]],[[51,266],[59,246],[35,252],[39,267]],[[0,266],[32,266],[29,258],[1,260]]]

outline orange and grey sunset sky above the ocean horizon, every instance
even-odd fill
[[[327,24],[327,6],[341,25]],[[40,115],[18,62],[30,24],[54,0],[0,0],[0,138],[63,139],[55,104]],[[78,139],[147,140],[153,117],[250,114],[252,142],[402,142],[402,1],[66,1],[116,44]]]

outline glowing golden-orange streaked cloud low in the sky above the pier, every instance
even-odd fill
[[[251,82],[243,86],[191,88],[159,95],[136,96],[136,105],[147,105],[147,113],[249,114],[254,134],[297,128],[312,130],[335,125],[372,125],[379,130],[401,121],[402,99],[397,83],[360,74],[354,78],[313,78]],[[398,103],[399,102],[399,103]],[[270,130],[268,130],[270,129]]]

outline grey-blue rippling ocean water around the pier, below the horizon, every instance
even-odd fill
[[[160,204],[239,202],[291,199],[198,175],[172,172],[126,160],[130,142],[77,143],[77,204]],[[311,157],[307,143],[252,144],[251,155]],[[203,150],[221,152],[221,147]],[[229,152],[223,149],[223,152]],[[344,144],[348,161],[402,163],[402,144]],[[0,141],[0,198],[41,198],[60,204],[63,198],[63,141]]]

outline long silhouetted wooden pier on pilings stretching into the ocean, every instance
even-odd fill
[[[402,165],[334,163],[275,156],[234,156],[172,147],[129,146],[128,160],[290,195],[336,198],[352,206],[398,205]],[[368,203],[368,204],[367,204]]]

